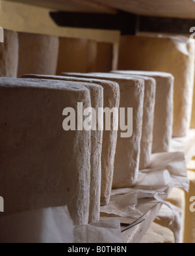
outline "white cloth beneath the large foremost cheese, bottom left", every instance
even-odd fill
[[[120,221],[74,226],[67,206],[0,218],[0,243],[121,243]]]

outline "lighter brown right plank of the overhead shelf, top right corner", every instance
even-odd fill
[[[142,16],[195,19],[194,0],[90,0]]]

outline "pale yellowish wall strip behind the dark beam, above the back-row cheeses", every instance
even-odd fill
[[[0,27],[18,32],[38,33],[68,38],[86,38],[118,43],[120,31],[59,27],[49,16],[50,9],[1,0]]]

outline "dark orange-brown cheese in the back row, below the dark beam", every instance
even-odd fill
[[[59,42],[58,75],[61,72],[94,72],[96,70],[97,43],[95,41],[59,38]]]

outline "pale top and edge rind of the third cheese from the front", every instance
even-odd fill
[[[24,78],[61,79],[65,81],[80,81],[82,83],[97,83],[103,87],[103,107],[119,107],[120,90],[118,83],[94,78],[73,78],[70,76],[38,76],[26,75]],[[107,205],[110,201],[112,180],[114,173],[114,156],[116,153],[117,132],[114,130],[103,132],[101,152],[101,205]],[[90,212],[90,216],[93,216]],[[92,217],[90,218],[92,219]]]

